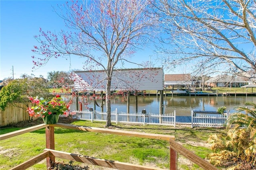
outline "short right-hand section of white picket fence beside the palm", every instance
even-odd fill
[[[195,114],[191,111],[191,127],[225,127],[230,113]]]

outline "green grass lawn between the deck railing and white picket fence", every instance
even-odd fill
[[[75,121],[72,124],[101,128],[105,125],[105,123],[91,123],[90,121]],[[207,154],[210,153],[209,146],[206,144],[209,135],[225,132],[225,129],[214,128],[198,127],[191,129],[188,126],[122,124],[118,124],[114,129],[174,135],[176,141],[202,158],[206,158]],[[12,127],[2,128],[0,134],[16,130],[18,129]],[[45,129],[2,140],[0,143],[0,169],[8,170],[40,154],[44,148]],[[170,150],[167,141],[55,128],[55,149],[107,160],[169,168]],[[60,160],[58,158],[56,158],[56,161],[68,163],[68,160]],[[184,157],[179,155],[178,169],[200,169],[194,164],[186,166],[185,163],[187,162],[189,161],[184,161]],[[80,163],[74,162],[73,164]],[[89,165],[89,167],[92,167],[92,165]],[[46,163],[42,161],[30,169],[45,170]]]

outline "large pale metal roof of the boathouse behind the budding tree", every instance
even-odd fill
[[[104,70],[75,71],[76,90],[106,90]],[[130,68],[114,70],[111,90],[163,90],[163,68]]]

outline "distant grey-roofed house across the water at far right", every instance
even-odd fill
[[[249,84],[250,80],[243,76],[218,75],[206,81],[208,87],[241,87]]]

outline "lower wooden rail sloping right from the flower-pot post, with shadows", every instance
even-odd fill
[[[134,165],[134,164],[124,163],[124,162],[99,159],[99,158],[94,158],[90,156],[83,156],[79,154],[62,152],[62,151],[52,150],[52,149],[44,149],[44,151],[50,151],[56,158],[73,160],[76,162],[83,162],[86,164],[92,164],[92,165],[114,168],[119,170],[163,170],[161,168],[154,168],[152,166],[149,167],[149,166],[142,166],[142,165]]]

